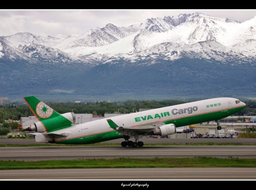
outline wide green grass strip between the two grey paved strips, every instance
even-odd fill
[[[256,167],[256,159],[244,158],[114,158],[48,161],[0,161],[0,170],[56,168],[175,168]]]

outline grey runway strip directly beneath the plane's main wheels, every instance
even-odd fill
[[[0,160],[73,160],[86,158],[256,158],[256,146],[37,146],[0,147]]]

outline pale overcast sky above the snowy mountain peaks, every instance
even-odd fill
[[[0,10],[0,36],[30,32],[40,36],[83,34],[108,23],[130,26],[147,18],[164,18],[202,12],[211,16],[244,22],[256,16],[256,10]],[[256,25],[256,23],[255,23]]]

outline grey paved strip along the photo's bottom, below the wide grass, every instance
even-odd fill
[[[86,168],[0,170],[2,180],[255,180],[255,168]],[[150,181],[146,181],[150,185]],[[136,181],[135,184],[146,184]],[[94,182],[95,184],[95,182]],[[159,181],[159,184],[161,182]]]

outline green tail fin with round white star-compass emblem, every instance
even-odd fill
[[[37,117],[38,121],[41,121],[46,132],[52,132],[66,127],[71,127],[73,124],[66,117],[60,115],[51,107],[46,105],[41,100],[34,96],[23,97],[28,107]]]

